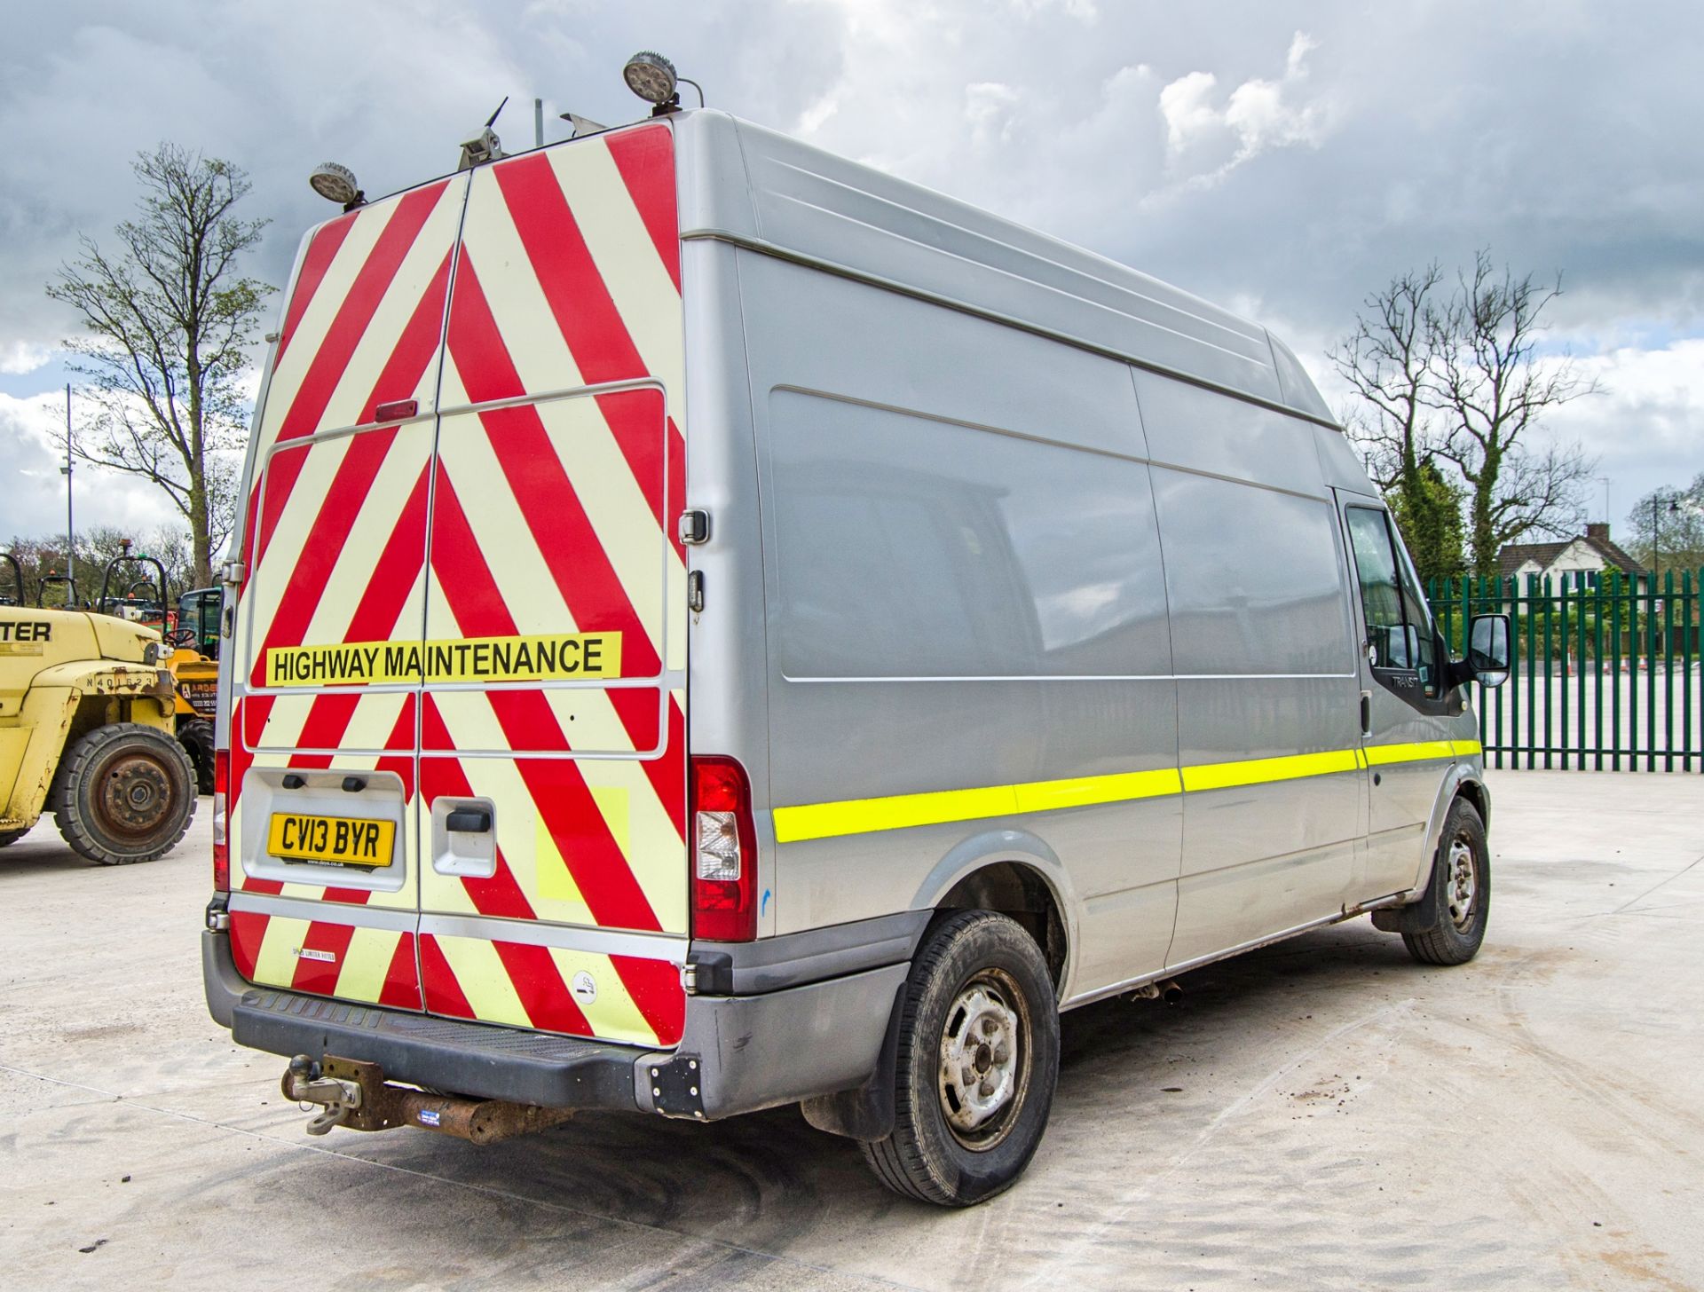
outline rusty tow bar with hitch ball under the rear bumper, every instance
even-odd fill
[[[567,1122],[571,1108],[538,1108],[504,1099],[467,1099],[460,1094],[428,1094],[412,1086],[385,1081],[378,1064],[325,1055],[320,1062],[296,1055],[279,1082],[286,1099],[320,1105],[308,1122],[310,1135],[332,1127],[390,1130],[419,1127],[440,1135],[492,1144]]]

